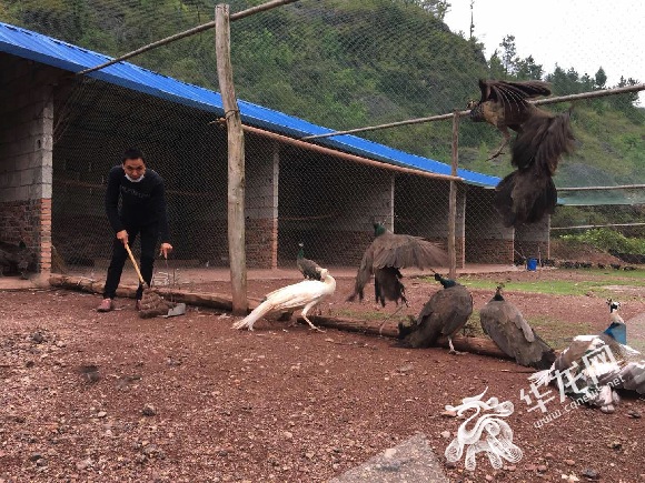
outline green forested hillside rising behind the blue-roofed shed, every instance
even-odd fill
[[[240,11],[260,1],[231,1]],[[0,20],[105,52],[122,54],[212,20],[214,0],[4,0]],[[441,21],[445,1],[301,0],[231,24],[239,98],[333,128],[351,129],[452,112],[477,99],[477,79],[545,79],[555,94],[603,89],[606,73],[575,66],[545,72],[499,39],[488,59],[477,39]],[[156,49],[132,62],[177,79],[217,88],[212,31]],[[628,67],[626,67],[627,69]],[[619,74],[613,72],[613,74]],[[625,74],[621,84],[637,82]],[[560,164],[563,185],[645,183],[645,114],[636,94],[577,102],[577,150]],[[564,110],[569,105],[550,105]],[[364,133],[408,152],[449,162],[449,122]],[[502,137],[467,119],[460,164],[503,175],[508,157],[486,161]]]

